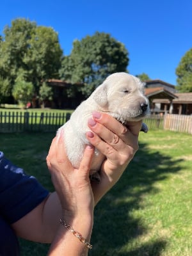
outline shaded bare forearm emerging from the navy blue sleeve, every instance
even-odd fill
[[[61,216],[60,200],[54,192],[26,216],[13,223],[12,227],[19,237],[38,243],[51,243]]]

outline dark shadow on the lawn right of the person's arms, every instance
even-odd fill
[[[150,230],[139,217],[133,216],[132,211],[146,207],[142,204],[143,196],[158,193],[155,182],[166,179],[169,173],[179,172],[179,166],[180,160],[173,161],[159,152],[150,152],[147,144],[141,143],[127,172],[95,209],[93,249],[89,255],[161,255],[166,240],[151,237],[147,241],[138,241],[138,237],[145,236]]]

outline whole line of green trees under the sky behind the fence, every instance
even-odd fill
[[[79,86],[88,97],[104,79],[114,72],[128,72],[129,52],[125,45],[108,33],[96,32],[75,40],[72,52],[65,56],[58,33],[54,29],[37,26],[27,19],[15,19],[0,35],[0,103],[16,100],[25,105],[32,97],[44,102],[52,99],[48,79],[61,79]],[[177,68],[180,90],[192,92],[192,49]],[[147,74],[138,75],[150,79]],[[66,88],[74,97],[76,86]]]

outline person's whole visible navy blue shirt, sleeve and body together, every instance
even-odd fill
[[[13,165],[0,151],[0,255],[19,255],[19,245],[10,224],[40,204],[49,192],[33,176]],[[11,252],[10,251],[11,248]]]

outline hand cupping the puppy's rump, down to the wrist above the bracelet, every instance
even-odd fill
[[[65,220],[82,215],[93,215],[94,198],[89,179],[93,152],[92,146],[86,146],[79,169],[76,169],[67,158],[63,134],[59,139],[56,137],[52,140],[47,156],[47,166],[60,198]]]

